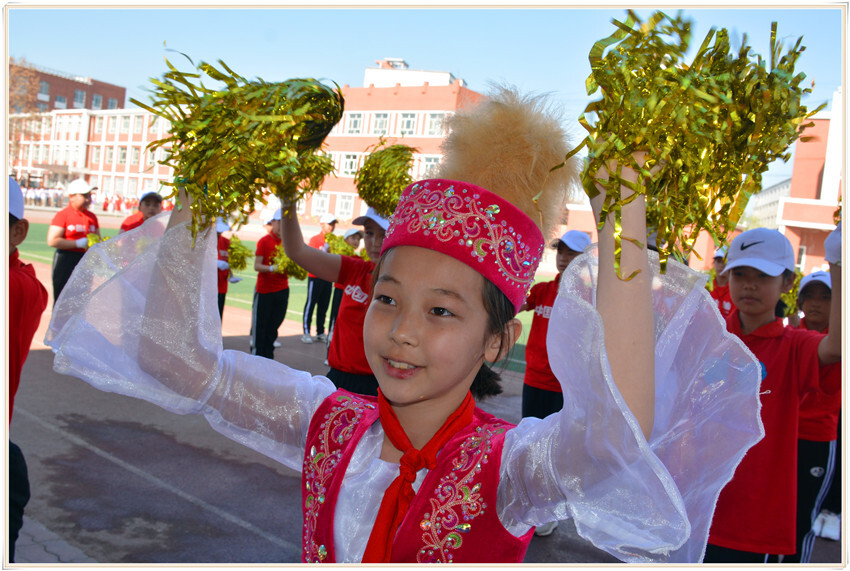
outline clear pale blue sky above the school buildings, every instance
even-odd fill
[[[826,7],[824,7],[826,6]],[[831,6],[831,7],[830,7]],[[746,34],[755,53],[769,55],[770,23],[778,22],[786,46],[803,36],[806,51],[797,70],[815,81],[803,103],[831,105],[846,65],[842,58],[843,14],[838,4],[760,9],[685,9],[693,20],[692,45],[710,27],[725,27],[733,45]],[[665,7],[675,14],[676,8]],[[646,18],[651,11],[640,10]],[[404,58],[411,69],[450,71],[471,89],[505,82],[523,91],[548,92],[574,119],[592,99],[584,89],[587,54],[608,36],[620,8],[569,6],[445,8],[55,8],[7,5],[8,55],[75,75],[125,86],[128,99],[147,99],[151,77],[166,71],[168,57],[180,69],[224,60],[246,77],[280,81],[317,77],[360,86],[363,70],[385,57]],[[166,49],[167,48],[167,49]],[[777,165],[770,185],[790,176]]]

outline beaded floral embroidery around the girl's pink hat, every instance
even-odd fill
[[[490,253],[498,273],[509,285],[525,290],[534,280],[540,261],[542,242],[522,234],[509,225],[495,200],[482,202],[475,187],[463,183],[425,180],[411,185],[402,195],[399,207],[390,218],[389,238],[397,227],[409,234],[422,233],[447,244],[469,251],[478,263],[484,263]],[[500,220],[501,218],[501,220]]]

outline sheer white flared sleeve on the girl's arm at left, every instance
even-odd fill
[[[310,418],[335,389],[324,377],[224,351],[216,235],[168,213],[91,248],[62,290],[45,343],[54,369],[179,414],[301,470]]]

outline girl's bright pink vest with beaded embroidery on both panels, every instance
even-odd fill
[[[302,474],[303,552],[334,563],[334,510],[345,470],[363,433],[378,420],[375,397],[339,390],[310,421]],[[521,563],[533,529],[521,537],[496,514],[503,420],[475,409],[472,423],[437,456],[393,544],[394,563]]]

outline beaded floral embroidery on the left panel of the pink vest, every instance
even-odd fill
[[[342,458],[343,443],[351,439],[366,409],[375,408],[371,403],[339,395],[337,404],[325,415],[319,425],[317,445],[310,447],[304,457],[304,558],[309,563],[320,563],[328,556],[325,545],[316,545],[316,521],[319,510],[325,503],[327,484],[334,468]]]

